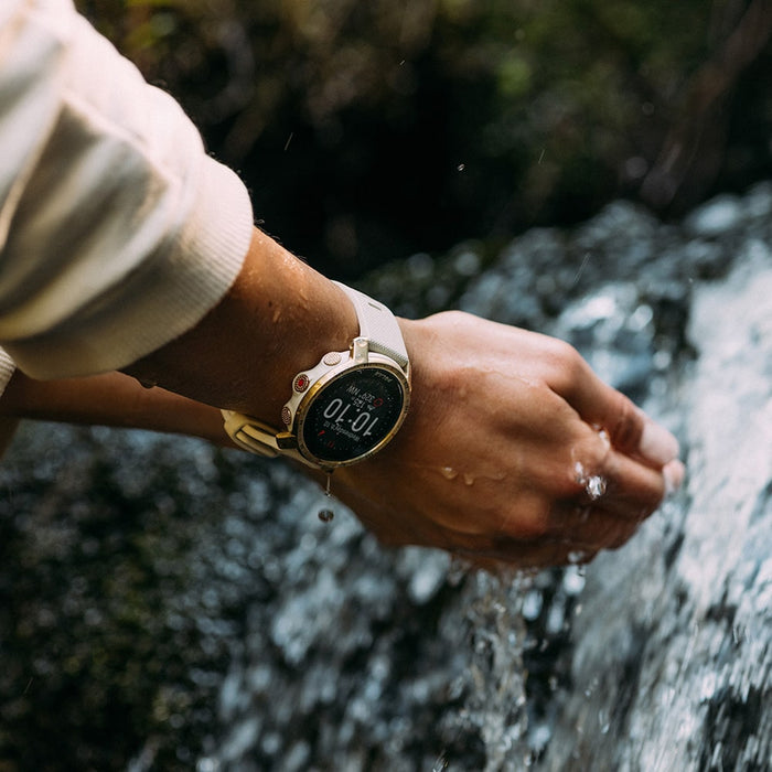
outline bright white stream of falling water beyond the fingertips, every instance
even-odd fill
[[[772,769],[772,262],[694,292],[685,492],[588,569],[542,768]]]

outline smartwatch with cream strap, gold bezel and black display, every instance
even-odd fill
[[[366,294],[334,282],[356,309],[360,334],[292,379],[277,430],[223,410],[225,430],[245,450],[286,455],[331,472],[377,453],[397,433],[410,404],[410,363],[394,314]]]

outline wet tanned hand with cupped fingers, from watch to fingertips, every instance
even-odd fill
[[[410,412],[333,476],[382,542],[522,568],[587,561],[680,484],[675,438],[568,344],[461,312],[400,324]]]

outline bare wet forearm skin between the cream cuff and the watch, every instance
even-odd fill
[[[345,293],[256,229],[221,303],[193,330],[125,372],[276,425],[292,377],[326,352],[345,350],[357,332]]]

